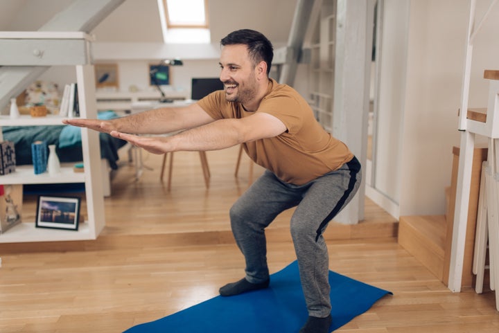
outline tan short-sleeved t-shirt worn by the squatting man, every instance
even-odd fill
[[[198,104],[214,119],[254,114],[239,103],[228,102],[224,91],[215,91]],[[288,130],[274,138],[243,143],[243,147],[253,161],[283,181],[303,185],[353,159],[347,145],[326,132],[306,100],[286,84],[270,79],[268,93],[255,112],[279,118]]]

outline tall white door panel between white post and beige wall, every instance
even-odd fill
[[[409,3],[409,0],[384,1],[380,45],[376,50],[380,73],[372,187],[395,204],[400,203],[401,124],[405,107]]]

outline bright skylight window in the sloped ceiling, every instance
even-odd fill
[[[208,28],[208,0],[164,0],[168,28]]]

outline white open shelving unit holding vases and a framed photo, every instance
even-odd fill
[[[91,38],[85,33],[3,33],[1,39],[18,39],[24,42],[24,39],[48,39],[49,41],[82,43],[84,49],[89,48]],[[29,43],[29,41],[27,41]],[[48,44],[50,45],[50,43]],[[49,46],[48,46],[49,48]],[[50,54],[50,49],[42,50]],[[71,50],[68,51],[71,56]],[[64,55],[56,55],[60,57]],[[47,56],[49,57],[49,56]],[[22,57],[21,57],[22,58]],[[82,118],[96,118],[96,98],[95,98],[95,80],[94,66],[90,63],[89,56],[75,57],[76,78],[78,83],[78,99],[80,102],[80,116]],[[37,64],[34,60],[28,64],[29,60],[22,60],[19,66]],[[49,62],[51,59],[49,58]],[[57,60],[53,60],[57,65]],[[0,116],[0,127],[3,126],[41,126],[41,125],[62,125],[62,118],[59,116],[36,117],[21,116],[10,119],[9,116]],[[1,133],[1,132],[0,132]],[[26,221],[23,219],[21,224],[10,228],[6,233],[0,235],[0,243],[17,242],[60,242],[74,240],[95,240],[100,231],[105,226],[103,181],[100,168],[100,142],[98,133],[81,129],[82,134],[82,155],[85,164],[85,172],[73,172],[72,164],[62,164],[61,173],[51,177],[48,173],[35,174],[33,165],[19,165],[16,171],[11,174],[0,176],[1,184],[51,184],[51,183],[85,183],[85,203],[87,206],[87,220],[80,221],[78,231],[66,231],[59,229],[35,228],[35,221]],[[22,212],[21,212],[22,215]]]

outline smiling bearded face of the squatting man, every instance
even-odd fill
[[[220,80],[229,102],[249,103],[256,96],[255,66],[244,44],[226,45],[220,55]]]

